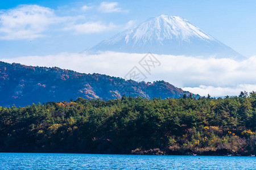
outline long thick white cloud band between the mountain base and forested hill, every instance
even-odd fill
[[[134,66],[137,66],[146,74],[146,82],[165,80],[202,96],[238,95],[244,90],[256,91],[256,56],[238,62],[228,58],[202,59],[155,54],[161,65],[148,74],[138,64],[144,55],[116,52],[61,53],[55,56],[28,56],[2,59],[2,61],[33,66],[58,66],[81,73],[101,73],[120,77],[124,77]]]

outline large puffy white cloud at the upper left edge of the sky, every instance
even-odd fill
[[[38,5],[22,5],[0,12],[0,39],[35,39],[42,37],[43,32],[53,23],[59,23],[54,11]]]

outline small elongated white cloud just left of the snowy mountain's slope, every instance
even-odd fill
[[[64,28],[66,31],[75,31],[75,33],[97,33],[97,32],[104,32],[104,31],[110,31],[117,26],[113,23],[110,23],[108,25],[103,24],[101,22],[86,22],[83,24],[71,24],[68,27]]]

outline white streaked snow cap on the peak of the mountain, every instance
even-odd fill
[[[154,39],[162,44],[162,41],[169,39],[180,39],[189,41],[190,37],[199,37],[202,40],[214,40],[214,38],[200,28],[192,25],[179,16],[160,15],[155,18],[150,18],[146,22],[138,25],[130,33],[129,36],[135,42],[148,39]]]

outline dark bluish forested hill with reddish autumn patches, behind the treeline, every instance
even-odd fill
[[[166,99],[190,93],[164,81],[135,82],[103,74],[82,74],[58,67],[34,67],[0,61],[0,94],[1,106],[24,106],[76,100],[77,97],[109,100],[125,95]]]

